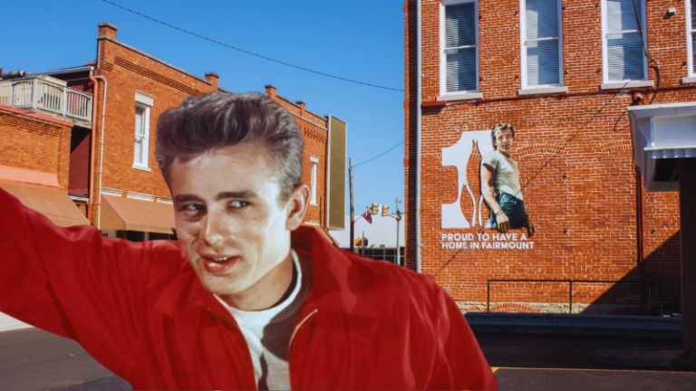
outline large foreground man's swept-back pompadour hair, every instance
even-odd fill
[[[259,92],[214,91],[165,111],[157,121],[155,154],[169,183],[177,157],[196,157],[246,142],[264,145],[274,157],[280,198],[287,200],[301,183],[304,137],[292,115]]]

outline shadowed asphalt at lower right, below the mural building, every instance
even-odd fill
[[[484,333],[477,339],[501,391],[696,389],[694,367],[619,367],[592,360],[601,348],[679,348],[681,339]]]

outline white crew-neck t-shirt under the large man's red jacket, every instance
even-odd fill
[[[287,299],[268,310],[244,311],[232,308],[216,298],[237,320],[247,340],[251,361],[254,363],[256,386],[259,390],[290,389],[289,347],[300,308],[312,285],[311,273],[302,272],[300,260],[291,251],[297,278]]]

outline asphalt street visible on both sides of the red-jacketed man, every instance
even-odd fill
[[[479,334],[500,390],[691,390],[696,368],[613,367],[599,348],[675,348],[679,339]],[[0,332],[0,391],[127,391],[131,386],[76,342],[40,329]]]

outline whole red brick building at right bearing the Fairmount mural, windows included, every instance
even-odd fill
[[[407,265],[463,310],[487,310],[489,280],[572,279],[575,313],[652,303],[654,314],[661,299],[679,311],[679,199],[646,192],[626,111],[696,100],[691,2],[407,0]],[[489,228],[479,167],[501,122],[516,129],[511,157],[533,236]],[[662,298],[639,281],[662,281]],[[568,282],[489,284],[491,311],[570,307]]]

